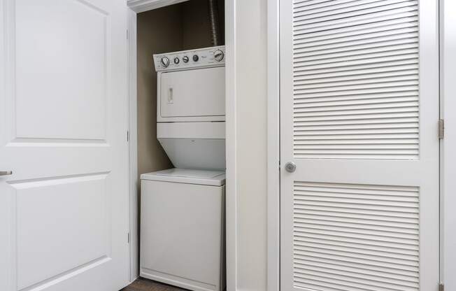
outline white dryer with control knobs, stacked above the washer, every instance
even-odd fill
[[[176,168],[225,169],[225,46],[154,55],[157,139]]]

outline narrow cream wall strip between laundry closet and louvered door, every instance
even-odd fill
[[[266,290],[266,3],[236,1],[238,290]]]

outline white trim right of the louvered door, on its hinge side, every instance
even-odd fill
[[[445,137],[441,143],[441,281],[456,290],[456,3],[440,1],[441,118]]]

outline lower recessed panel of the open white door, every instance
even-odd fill
[[[111,260],[106,178],[108,173],[94,173],[8,183],[16,197],[18,289],[57,283],[82,267],[99,265],[104,258]],[[52,205],[55,203],[59,208]],[[52,228],[56,218],[64,229]],[[38,228],[37,222],[48,227]]]

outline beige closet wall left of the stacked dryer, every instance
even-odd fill
[[[138,175],[172,167],[157,140],[157,73],[152,54],[182,48],[180,13],[180,6],[169,6],[137,15]]]

